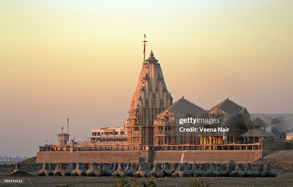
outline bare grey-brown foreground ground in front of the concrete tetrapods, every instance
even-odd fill
[[[46,186],[55,187],[68,185],[69,187],[87,186],[87,187],[99,187],[99,186],[112,186],[111,177],[89,177],[89,176],[33,176],[33,177],[8,177],[10,171],[14,170],[15,166],[6,166],[0,168],[0,187],[6,186]],[[22,169],[28,173],[35,175],[36,171],[40,169],[41,165],[36,166],[22,166]],[[253,167],[255,170],[256,166]],[[277,186],[288,187],[293,186],[293,171],[285,169],[272,168],[277,173],[276,178],[231,178],[231,177],[203,177],[203,180],[209,180],[210,186],[232,187],[232,186]],[[22,179],[22,183],[3,183],[4,179]],[[135,178],[141,182],[143,178]],[[147,179],[148,180],[148,179]],[[175,186],[188,186],[190,178],[157,178],[157,186],[163,187],[175,187]]]

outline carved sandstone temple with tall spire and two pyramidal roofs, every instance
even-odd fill
[[[151,51],[142,64],[127,120],[128,145],[212,145],[230,143],[258,143],[265,141],[268,125],[257,117],[253,121],[248,110],[226,98],[205,110],[183,96],[173,103],[161,65]],[[229,128],[229,132],[180,132],[181,118],[216,118],[217,124],[184,124],[186,127]],[[211,149],[213,146],[209,146]]]

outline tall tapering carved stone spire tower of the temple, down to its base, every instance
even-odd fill
[[[161,65],[153,51],[142,64],[138,83],[134,92],[127,122],[129,145],[153,144],[153,123],[156,115],[173,102],[168,92]]]

